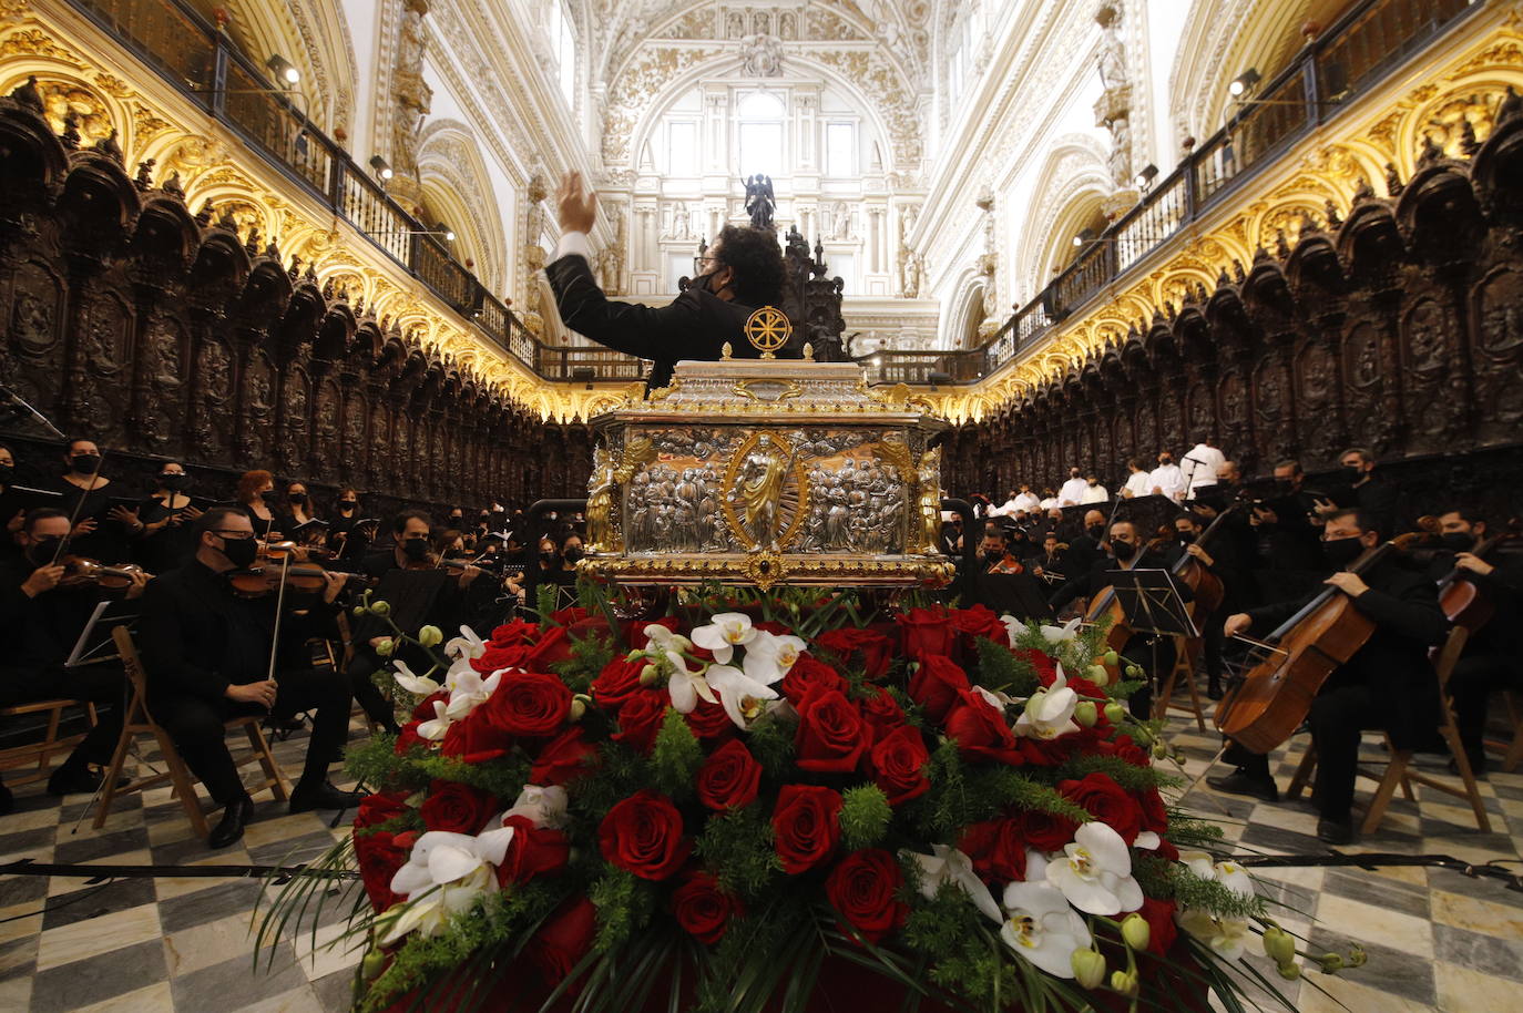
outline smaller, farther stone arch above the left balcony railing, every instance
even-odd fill
[[[419,134],[417,172],[428,206],[455,232],[455,259],[475,260],[481,283],[504,294],[507,236],[480,140],[460,120],[429,120]]]

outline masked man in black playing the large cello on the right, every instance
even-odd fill
[[[1438,606],[1438,593],[1427,574],[1403,565],[1400,558],[1381,559],[1363,574],[1348,573],[1366,550],[1380,541],[1377,526],[1360,510],[1340,509],[1327,516],[1322,553],[1336,568],[1323,583],[1354,600],[1354,608],[1374,622],[1369,640],[1322,684],[1311,704],[1311,742],[1317,749],[1317,838],[1327,844],[1354,839],[1354,772],[1359,736],[1366,730],[1390,733],[1397,748],[1410,748],[1424,722],[1433,721],[1438,685],[1429,647],[1448,634],[1448,620]],[[1301,599],[1266,605],[1229,615],[1228,637],[1260,634],[1310,603],[1322,588]],[[1226,760],[1237,769],[1226,777],[1208,777],[1211,788],[1279,801],[1269,772],[1269,757],[1234,742]]]

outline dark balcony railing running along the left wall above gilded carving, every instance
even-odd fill
[[[353,225],[376,248],[472,321],[504,352],[550,379],[567,361],[542,344],[500,299],[402,209],[349,152],[309,119],[299,91],[274,87],[224,32],[184,0],[70,0],[154,67],[189,101],[248,142],[270,165]],[[617,378],[638,370],[623,360]],[[545,373],[542,364],[551,370]],[[615,378],[597,363],[599,379]],[[570,378],[570,376],[567,376]]]

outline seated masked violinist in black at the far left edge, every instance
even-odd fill
[[[146,574],[134,574],[120,591],[76,580],[61,562],[69,515],[52,507],[29,512],[20,530],[21,558],[0,564],[0,707],[67,696],[94,701],[97,724],[75,746],[52,777],[53,795],[91,794],[101,775],[90,765],[107,766],[122,734],[126,676],[111,663],[64,667],[96,605],[107,597],[137,599]]]

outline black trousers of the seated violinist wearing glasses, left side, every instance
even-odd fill
[[[297,788],[315,788],[327,777],[327,765],[347,737],[353,699],[349,679],[330,669],[292,669],[276,673],[276,705],[270,713],[289,717],[303,710],[314,711],[312,740],[306,746],[306,765]],[[186,766],[201,778],[218,804],[225,806],[244,795],[244,783],[227,749],[224,722],[263,714],[263,707],[200,696],[155,696],[151,710],[154,721],[174,739]]]

